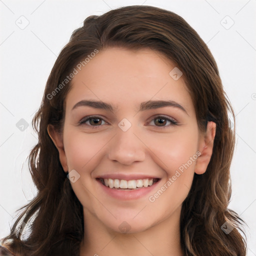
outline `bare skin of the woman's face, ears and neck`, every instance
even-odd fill
[[[75,169],[80,178],[71,183],[83,205],[84,239],[80,255],[182,255],[179,217],[194,173],[205,172],[212,154],[215,123],[198,129],[195,110],[183,77],[174,80],[174,63],[160,53],[107,48],[95,55],[72,79],[66,97],[63,133],[48,125],[63,170]],[[90,106],[72,107],[80,100],[111,104],[114,112]],[[174,100],[186,110],[165,106],[138,111],[147,100]],[[87,121],[97,115],[99,124]],[[175,119],[178,125],[157,116]],[[126,118],[131,127],[118,123]],[[156,119],[155,119],[156,118]],[[93,128],[93,125],[96,126]],[[165,128],[163,128],[164,125]],[[196,151],[201,153],[153,202],[159,190]],[[139,173],[160,178],[155,189],[135,200],[105,194],[96,177],[108,173]],[[127,233],[118,226],[126,221]]]

